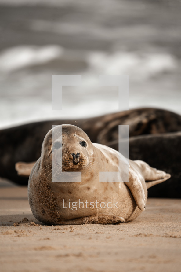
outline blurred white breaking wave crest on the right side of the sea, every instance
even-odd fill
[[[129,74],[132,79],[137,80],[173,72],[178,67],[175,57],[168,53],[92,52],[87,60],[92,70],[97,73]]]

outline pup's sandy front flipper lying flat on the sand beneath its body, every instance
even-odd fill
[[[60,225],[81,225],[81,224],[120,224],[124,223],[125,219],[121,216],[96,214],[90,216],[84,216],[71,220],[66,220],[60,223]]]

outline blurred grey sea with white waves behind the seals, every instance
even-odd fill
[[[0,0],[0,127],[118,111],[118,88],[99,75],[129,75],[129,106],[181,114],[180,1]],[[51,75],[82,75],[51,110]]]

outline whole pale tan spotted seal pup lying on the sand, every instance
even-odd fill
[[[53,141],[52,133],[57,135]],[[35,218],[55,225],[118,224],[135,219],[145,210],[147,188],[170,175],[141,160],[129,160],[129,182],[124,182],[118,155],[110,147],[92,143],[73,125],[50,130],[28,181],[28,199]],[[56,158],[53,165],[52,156]],[[81,182],[61,182],[65,171],[81,171]],[[99,182],[99,171],[118,172],[122,182]],[[60,182],[52,182],[52,178]]]

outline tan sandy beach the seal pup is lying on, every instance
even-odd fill
[[[0,185],[3,272],[181,271],[181,200],[148,199],[131,223],[46,226],[31,213],[27,187]]]

